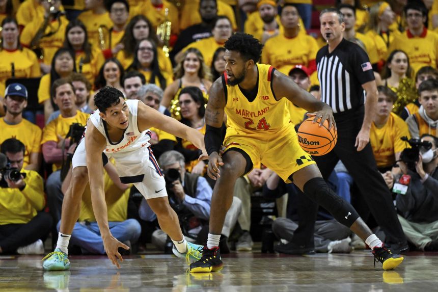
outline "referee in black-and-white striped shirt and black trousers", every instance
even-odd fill
[[[386,244],[391,245],[396,253],[406,251],[406,237],[398,221],[391,192],[377,170],[369,144],[372,114],[377,104],[377,87],[371,63],[360,46],[343,39],[345,23],[339,10],[323,10],[320,22],[321,34],[328,43],[316,55],[321,100],[332,107],[338,142],[330,153],[313,158],[325,179],[341,160],[358,185],[377,224],[385,232]],[[293,242],[300,247],[311,248],[317,205],[307,196],[299,198],[299,228],[295,231]]]

